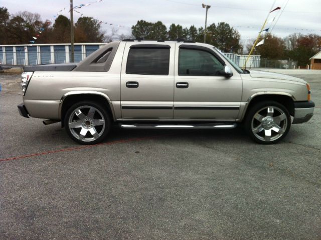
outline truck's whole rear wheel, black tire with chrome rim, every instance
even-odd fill
[[[95,101],[81,101],[68,109],[64,123],[72,140],[92,145],[106,138],[111,128],[111,117],[103,105]]]

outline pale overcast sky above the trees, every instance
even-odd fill
[[[93,3],[96,0],[74,0],[74,6]],[[183,27],[195,25],[203,27],[205,9],[202,3],[211,5],[208,12],[208,25],[226,22],[237,29],[243,41],[257,36],[274,0],[102,0],[100,3],[82,7],[78,11],[84,16],[94,17],[99,21],[122,25],[114,27],[118,34],[129,34],[130,27],[138,20],[149,22],[162,21],[167,27],[172,23]],[[294,32],[321,35],[321,0],[276,0],[274,8],[281,7],[281,14],[272,33],[284,37]],[[57,12],[69,17],[69,0],[1,0],[0,7],[8,8],[11,14],[20,11],[39,13],[42,20],[52,19]],[[281,10],[282,10],[281,9]],[[275,17],[278,11],[271,14]],[[280,14],[281,11],[279,11]],[[75,13],[75,22],[80,14]],[[273,23],[276,22],[278,16]],[[108,34],[110,25],[102,25]],[[270,26],[270,24],[268,25]]]

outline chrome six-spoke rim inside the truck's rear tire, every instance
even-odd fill
[[[103,114],[93,106],[79,106],[70,114],[68,127],[71,134],[83,142],[98,139],[105,130]]]

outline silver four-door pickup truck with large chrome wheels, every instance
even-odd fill
[[[81,144],[126,129],[231,129],[260,144],[283,139],[313,115],[302,79],[242,70],[215,47],[191,41],[111,42],[76,64],[26,66],[25,117],[60,122]]]

